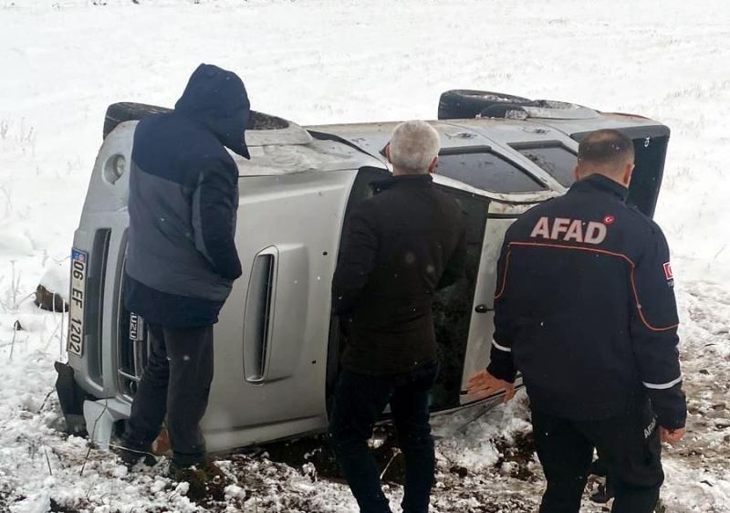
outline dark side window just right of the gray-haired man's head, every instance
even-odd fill
[[[493,193],[532,193],[545,186],[494,152],[442,152],[437,174]]]

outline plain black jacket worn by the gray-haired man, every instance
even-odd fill
[[[393,177],[349,215],[332,283],[343,365],[389,375],[436,361],[431,305],[463,275],[464,213],[430,175]]]

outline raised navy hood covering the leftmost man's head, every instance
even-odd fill
[[[245,145],[245,129],[251,103],[243,80],[233,71],[201,64],[191,75],[175,112],[202,123],[231,151],[250,158]]]

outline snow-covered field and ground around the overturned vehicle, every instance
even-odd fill
[[[54,429],[62,316],[31,294],[44,276],[67,287],[104,111],[172,106],[201,62],[238,72],[255,110],[300,124],[433,119],[443,90],[470,88],[669,125],[656,217],[691,415],[664,453],[662,511],[730,511],[727,0],[0,0],[0,511],[357,511],[347,487],[262,455],[224,462],[237,484],[198,505],[163,464],[129,473]],[[521,394],[462,429],[465,414],[440,420],[432,511],[535,511],[537,460],[509,455],[527,419]],[[400,511],[400,487],[388,493]]]

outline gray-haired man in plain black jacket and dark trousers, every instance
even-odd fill
[[[432,302],[463,275],[464,213],[431,174],[439,134],[401,123],[385,155],[393,176],[349,215],[332,283],[332,308],[347,336],[330,435],[364,513],[389,513],[367,441],[390,403],[406,460],[404,513],[426,513],[435,459],[429,392],[436,379]]]

